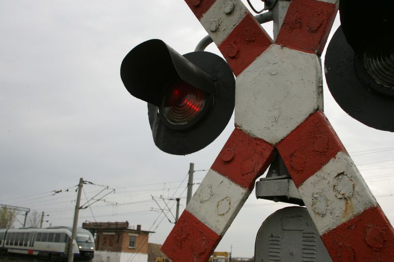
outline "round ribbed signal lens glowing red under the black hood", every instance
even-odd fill
[[[163,113],[172,124],[185,124],[194,119],[205,104],[205,91],[177,82],[169,88],[163,100]]]

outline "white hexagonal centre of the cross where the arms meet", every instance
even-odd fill
[[[271,45],[236,78],[235,124],[275,145],[323,109],[321,61]]]

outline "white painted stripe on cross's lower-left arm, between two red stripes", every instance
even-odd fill
[[[218,235],[224,235],[249,195],[249,190],[209,170],[186,210]]]

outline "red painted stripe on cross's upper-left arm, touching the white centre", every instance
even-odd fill
[[[270,45],[272,39],[247,13],[230,35],[219,45],[219,50],[237,76],[258,58]]]

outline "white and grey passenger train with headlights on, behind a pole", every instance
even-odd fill
[[[31,256],[50,261],[67,260],[72,229],[68,227],[0,229],[0,254]],[[77,229],[74,260],[93,259],[95,242],[92,234]]]

